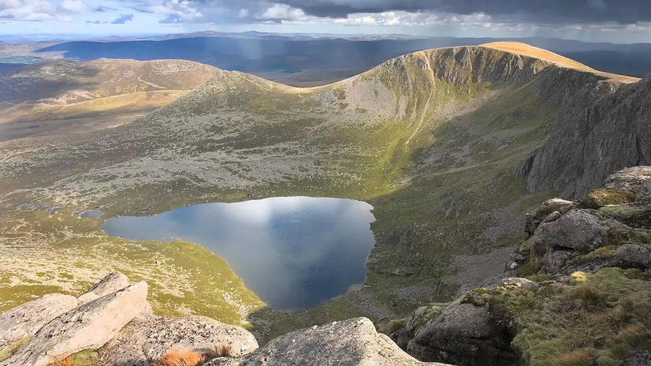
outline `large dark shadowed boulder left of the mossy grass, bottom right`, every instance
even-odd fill
[[[510,339],[499,331],[486,306],[453,302],[417,331],[408,352],[422,360],[468,366],[518,365]]]

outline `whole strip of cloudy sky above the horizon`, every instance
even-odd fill
[[[0,34],[202,30],[651,42],[651,0],[0,0]]]

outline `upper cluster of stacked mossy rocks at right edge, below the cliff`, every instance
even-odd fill
[[[651,167],[623,169],[583,201],[567,203],[570,210],[554,211],[538,226],[530,224],[534,220],[529,218],[542,216],[538,212],[549,212],[547,201],[527,214],[525,230],[534,229],[529,255],[518,253],[512,259],[520,264],[542,260],[540,272],[559,278],[609,266],[651,268],[651,231],[644,225],[651,221],[650,185]]]

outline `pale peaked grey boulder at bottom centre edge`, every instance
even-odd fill
[[[217,358],[206,366],[441,366],[409,356],[367,318],[293,331],[240,358]]]

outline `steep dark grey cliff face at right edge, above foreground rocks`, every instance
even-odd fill
[[[611,173],[651,163],[651,77],[636,83],[577,80],[559,119],[531,156],[527,187],[584,197]]]

